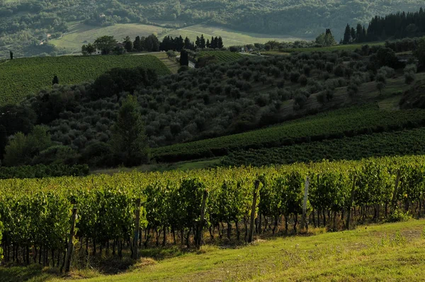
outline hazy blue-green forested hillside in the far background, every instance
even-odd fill
[[[331,28],[339,38],[346,23],[367,24],[373,16],[417,11],[421,4],[420,0],[0,0],[0,47],[15,49],[9,46],[20,42],[26,43],[25,55],[52,55],[52,46],[40,46],[40,40],[47,33],[60,38],[72,23],[151,23],[166,28],[205,23],[302,38],[315,38]]]

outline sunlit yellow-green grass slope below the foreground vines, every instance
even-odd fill
[[[242,247],[142,250],[118,275],[93,270],[60,276],[50,269],[0,268],[0,281],[421,281],[425,220],[361,226],[344,232],[271,237]],[[315,234],[315,235],[313,235]]]

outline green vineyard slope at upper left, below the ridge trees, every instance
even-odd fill
[[[158,74],[169,69],[154,56],[63,56],[29,57],[0,64],[0,106],[16,103],[41,89],[50,87],[55,75],[60,84],[77,84],[94,80],[115,67],[146,67]]]

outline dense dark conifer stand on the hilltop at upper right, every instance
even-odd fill
[[[375,16],[368,28],[358,23],[356,28],[346,25],[342,44],[365,43],[388,39],[414,38],[425,34],[425,12],[390,13],[387,16]]]

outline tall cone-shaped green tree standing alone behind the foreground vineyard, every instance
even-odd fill
[[[118,111],[118,120],[113,125],[113,152],[127,166],[135,166],[149,160],[149,147],[145,124],[135,96],[128,96]]]

